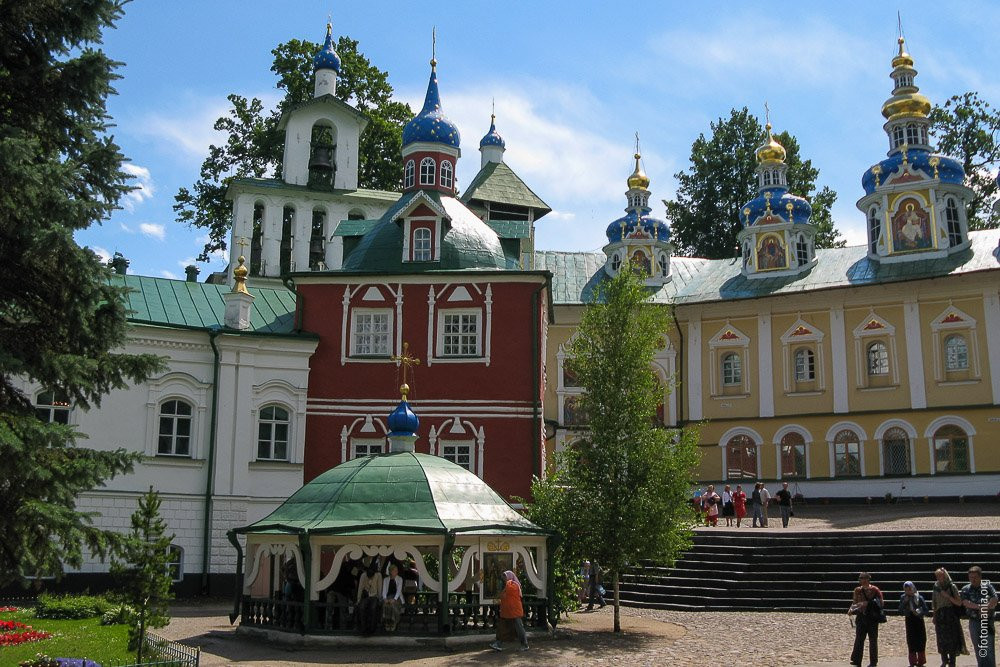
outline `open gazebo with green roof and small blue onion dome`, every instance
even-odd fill
[[[269,516],[229,532],[238,631],[294,641],[356,635],[357,600],[340,582],[349,587],[352,570],[374,558],[412,562],[419,573],[395,635],[492,633],[504,570],[522,581],[525,628],[549,627],[552,536],[469,470],[416,453],[420,422],[402,389],[388,419],[388,454],[331,468]]]

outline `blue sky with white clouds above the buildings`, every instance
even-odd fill
[[[935,103],[977,90],[1000,105],[995,46],[1000,4],[908,2],[903,30],[917,83]],[[142,189],[109,221],[78,235],[99,253],[122,252],[130,272],[183,277],[201,230],[171,208],[210,143],[226,95],[278,99],[270,51],[291,38],[334,33],[389,72],[397,96],[419,108],[432,26],[445,113],[462,132],[459,186],[479,167],[479,139],[496,99],[506,161],[553,209],[537,225],[540,249],[593,250],[625,205],[633,135],[657,202],[673,196],[691,142],[732,107],[763,114],[799,139],[839,198],[834,219],[864,239],[854,207],[862,172],[885,155],[882,102],[896,49],[896,10],[881,3],[657,2],[156,2],[126,5],[105,35],[125,63],[109,101],[115,137]],[[225,257],[202,276],[217,270]]]

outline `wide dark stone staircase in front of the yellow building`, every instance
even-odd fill
[[[867,571],[894,613],[904,581],[929,602],[936,568],[961,588],[970,565],[1000,581],[1000,532],[698,530],[673,568],[646,562],[622,575],[621,600],[685,611],[844,613]]]

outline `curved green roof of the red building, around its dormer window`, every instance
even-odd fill
[[[423,195],[421,195],[423,192]],[[412,199],[429,197],[449,219],[441,239],[441,259],[435,262],[403,262],[402,225],[396,215]],[[436,191],[414,191],[386,211],[382,219],[362,237],[344,259],[345,271],[424,273],[454,269],[516,269],[518,258],[504,254],[496,232],[490,229],[465,204]]]

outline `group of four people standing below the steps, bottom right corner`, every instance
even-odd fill
[[[969,583],[959,590],[947,570],[935,570],[930,606],[912,581],[903,584],[903,593],[899,596],[899,613],[906,624],[906,648],[910,667],[927,664],[927,628],[924,618],[928,616],[934,625],[941,667],[955,667],[958,655],[970,652],[975,655],[978,667],[996,667],[994,615],[998,602],[997,592],[989,581],[983,579],[982,568],[978,565],[970,567],[968,574]],[[858,576],[858,586],[854,589],[854,597],[847,613],[855,629],[851,664],[860,667],[867,638],[869,665],[874,667],[878,664],[878,626],[886,621],[885,597],[877,586],[872,585],[871,575],[867,572]],[[966,646],[962,631],[963,616],[969,620],[969,647]]]

